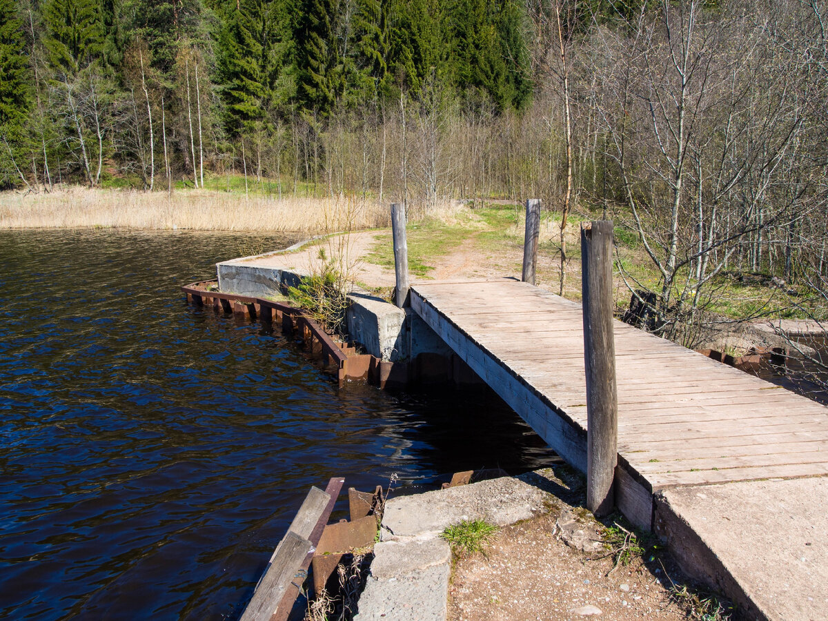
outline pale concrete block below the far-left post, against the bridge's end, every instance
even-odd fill
[[[405,311],[363,293],[349,293],[348,301],[350,338],[383,362],[406,361],[409,347]]]

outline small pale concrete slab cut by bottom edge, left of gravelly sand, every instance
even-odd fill
[[[354,621],[445,621],[449,563],[392,580],[368,576]]]

